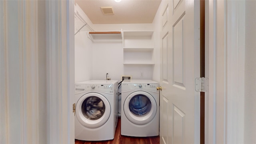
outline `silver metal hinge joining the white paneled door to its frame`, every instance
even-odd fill
[[[208,92],[209,90],[209,79],[208,78],[196,78],[195,90],[197,92]]]

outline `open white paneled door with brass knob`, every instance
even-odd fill
[[[200,143],[200,1],[162,2],[160,143]]]

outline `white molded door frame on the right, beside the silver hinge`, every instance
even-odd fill
[[[245,1],[205,2],[205,142],[244,143]]]

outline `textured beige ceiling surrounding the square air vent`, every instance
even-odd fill
[[[75,0],[93,24],[152,23],[161,0]],[[103,14],[100,7],[112,6],[114,14]]]

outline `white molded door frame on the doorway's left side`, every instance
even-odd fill
[[[74,143],[74,0],[46,1],[47,138]]]

